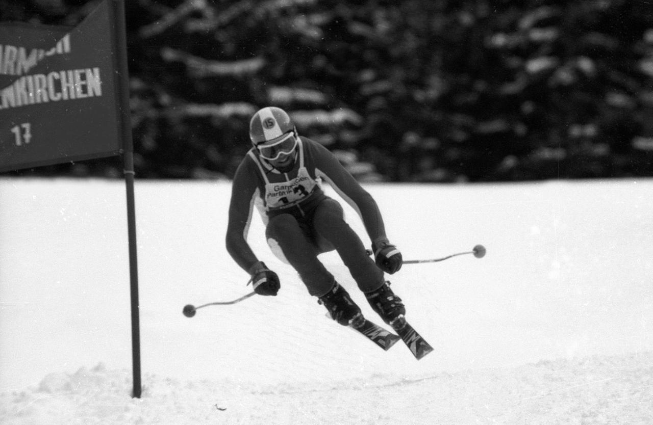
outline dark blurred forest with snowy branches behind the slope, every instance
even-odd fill
[[[653,176],[649,0],[125,3],[138,178],[231,178],[270,105],[360,181]],[[96,5],[1,0],[0,19],[76,25]]]

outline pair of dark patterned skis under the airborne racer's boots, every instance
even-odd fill
[[[428,342],[417,333],[417,330],[409,325],[404,316],[399,317],[392,323],[392,329],[397,332],[396,334],[380,327],[368,319],[364,319],[364,321],[356,326],[349,325],[349,327],[357,330],[357,332],[368,338],[368,340],[374,342],[374,344],[383,348],[385,351],[388,351],[398,340],[404,341],[404,344],[406,344],[417,360],[433,351],[433,347],[431,347]]]

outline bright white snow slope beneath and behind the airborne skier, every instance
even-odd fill
[[[250,290],[223,243],[231,185],[137,181],[138,400],[123,183],[0,180],[0,423],[653,423],[653,181],[366,188],[404,259],[488,250],[390,276],[434,353],[325,319],[258,218],[278,297],[184,317]]]

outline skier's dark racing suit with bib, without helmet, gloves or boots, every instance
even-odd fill
[[[383,271],[345,222],[340,203],[325,195],[322,181],[357,211],[372,242],[387,239],[372,196],[325,147],[300,136],[295,164],[287,173],[260,158],[255,148],[238,166],[229,205],[227,251],[246,271],[258,261],[247,244],[253,207],[257,207],[272,252],[295,268],[311,295],[325,295],[333,286],[334,276],[317,256],[334,249],[360,290],[374,291],[383,285]]]

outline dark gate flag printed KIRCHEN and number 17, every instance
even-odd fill
[[[0,171],[121,153],[109,3],[72,29],[0,24]]]

